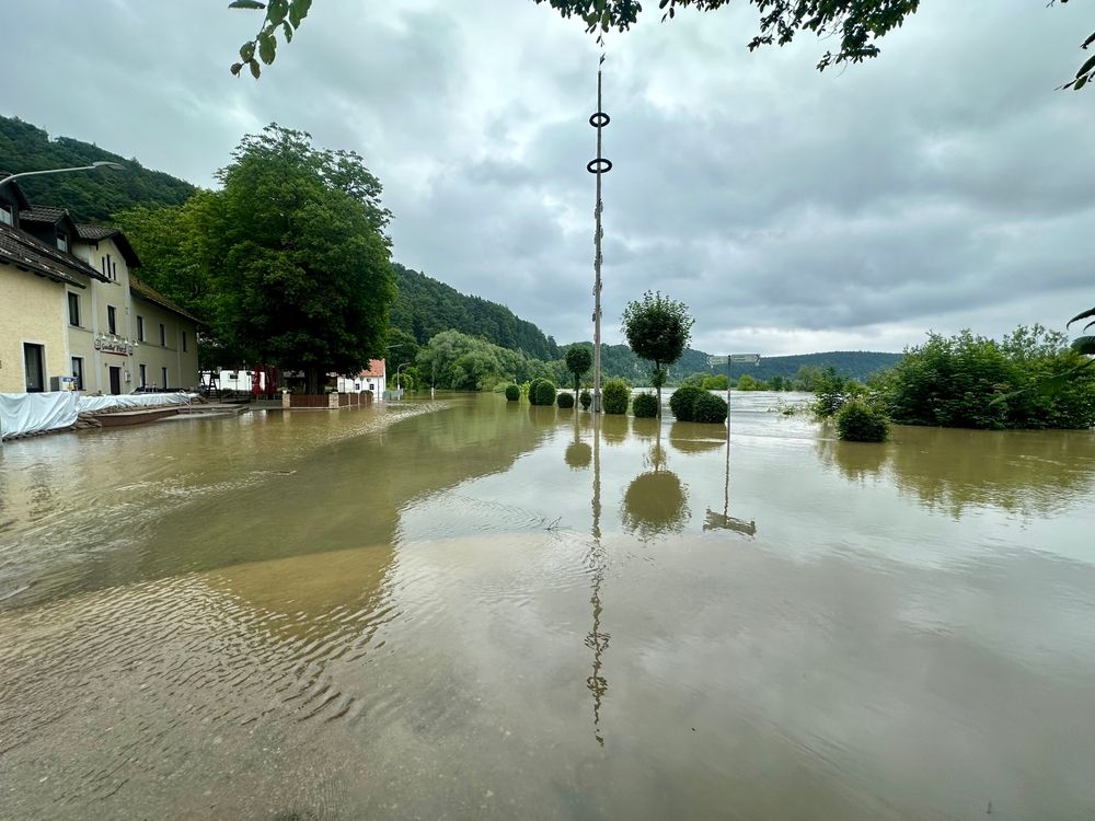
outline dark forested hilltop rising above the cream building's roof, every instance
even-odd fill
[[[19,186],[32,203],[64,206],[78,222],[107,222],[118,211],[138,205],[180,205],[195,192],[189,183],[150,171],[136,160],[69,137],[49,139],[30,123],[0,117],[0,176],[91,165],[101,160],[119,162],[126,170],[32,176],[20,180]]]

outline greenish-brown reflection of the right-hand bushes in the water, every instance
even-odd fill
[[[971,508],[1059,512],[1086,504],[1095,482],[1090,431],[896,427],[885,444],[822,432],[817,453],[850,481],[888,476],[901,493],[956,519]]]

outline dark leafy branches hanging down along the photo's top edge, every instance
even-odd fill
[[[1060,0],[1067,3],[1068,0]],[[533,0],[548,3],[564,18],[579,18],[589,32],[626,31],[638,21],[643,3],[638,0]],[[839,44],[827,51],[818,69],[844,62],[862,62],[879,54],[878,41],[899,27],[920,8],[920,0],[748,0],[760,13],[760,31],[749,41],[749,50],[760,46],[791,43],[799,32],[811,32]],[[671,20],[678,9],[715,11],[730,0],[658,0],[661,20]],[[1053,5],[1054,0],[1049,0]],[[262,63],[270,65],[277,55],[278,36],[291,42],[311,9],[312,0],[232,0],[230,9],[250,9],[263,13],[258,33],[240,47],[240,59],[232,73],[244,67],[256,79]],[[1086,49],[1095,43],[1095,33],[1081,44]],[[1095,57],[1087,59],[1061,88],[1084,88],[1095,74]]]

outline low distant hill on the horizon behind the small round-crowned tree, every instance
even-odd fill
[[[592,343],[575,343],[592,348]],[[563,346],[565,354],[569,345]],[[737,379],[742,373],[749,373],[761,381],[772,377],[791,378],[798,373],[799,368],[828,368],[832,366],[844,377],[852,377],[861,382],[876,371],[892,368],[902,357],[901,354],[880,354],[867,350],[837,350],[827,354],[799,354],[786,357],[761,357],[760,365],[734,365],[730,367],[730,379]],[[622,377],[632,384],[643,384],[650,372],[648,362],[636,357],[626,345],[601,346],[601,368],[608,377]],[[726,367],[716,369],[707,367],[707,355],[702,350],[688,348],[684,356],[669,369],[669,382],[677,383],[691,373],[726,373]]]

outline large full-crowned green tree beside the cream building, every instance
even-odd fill
[[[267,126],[218,172],[210,224],[221,332],[262,360],[327,372],[383,357],[395,299],[380,182],[350,151]]]

